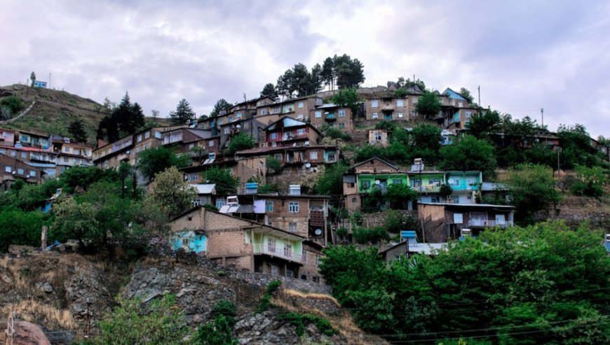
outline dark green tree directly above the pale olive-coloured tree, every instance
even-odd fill
[[[156,174],[169,167],[180,169],[189,165],[191,165],[191,159],[187,155],[178,156],[173,148],[157,146],[140,153],[137,169],[140,169],[140,172],[148,181],[152,181]]]

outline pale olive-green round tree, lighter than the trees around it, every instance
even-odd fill
[[[169,167],[156,174],[148,197],[173,218],[191,208],[197,192],[184,181],[184,177],[176,167]]]

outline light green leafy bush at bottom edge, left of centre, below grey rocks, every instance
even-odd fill
[[[118,307],[100,321],[100,345],[179,345],[189,344],[191,332],[173,295],[144,304],[140,299],[117,298]]]

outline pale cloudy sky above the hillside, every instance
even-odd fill
[[[466,87],[482,106],[551,130],[610,136],[608,1],[0,0],[0,85],[31,71],[102,102],[126,91],[145,113],[187,99],[198,115],[257,97],[294,64],[334,54],[365,86],[398,76]]]

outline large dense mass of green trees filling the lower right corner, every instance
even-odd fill
[[[586,225],[514,227],[390,268],[377,248],[335,246],[320,271],[360,327],[389,339],[607,344],[610,258],[600,238]]]

